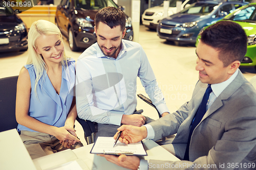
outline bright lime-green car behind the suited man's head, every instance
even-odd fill
[[[243,27],[248,36],[248,45],[247,53],[241,62],[241,66],[254,67],[256,69],[256,3],[243,6],[222,20],[231,20]],[[196,46],[200,38],[200,36],[197,37]]]

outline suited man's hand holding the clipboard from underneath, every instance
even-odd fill
[[[120,155],[119,157],[114,155],[98,155],[105,157],[106,160],[117,164],[118,166],[122,166],[124,168],[128,169],[134,169],[137,170],[140,165],[140,158],[137,156],[126,156],[126,155]]]

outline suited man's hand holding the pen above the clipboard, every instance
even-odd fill
[[[147,130],[146,127],[136,127],[131,125],[122,125],[117,129],[118,132],[115,134],[114,139],[117,138],[119,131],[123,131],[120,138],[118,139],[122,143],[137,143],[142,139],[146,138]]]

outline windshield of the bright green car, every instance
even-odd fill
[[[249,6],[236,10],[233,14],[225,17],[226,20],[238,20],[244,22],[256,22],[256,8],[255,6]]]

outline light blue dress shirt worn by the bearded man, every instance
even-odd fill
[[[97,43],[84,51],[76,66],[77,114],[101,124],[120,125],[137,105],[137,77],[159,112],[169,112],[154,72],[140,44],[122,40],[117,58],[106,57]]]

